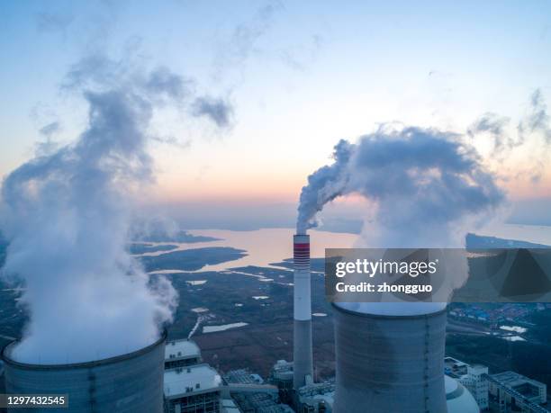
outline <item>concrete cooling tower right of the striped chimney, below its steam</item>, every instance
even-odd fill
[[[384,316],[333,305],[336,413],[445,413],[446,310]]]

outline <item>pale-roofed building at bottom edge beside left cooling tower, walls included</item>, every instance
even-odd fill
[[[195,364],[165,371],[166,413],[219,413],[221,376],[208,364]]]

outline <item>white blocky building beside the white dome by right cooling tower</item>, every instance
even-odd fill
[[[444,359],[445,373],[456,379],[471,392],[481,410],[490,408],[488,400],[489,382],[486,379],[488,367],[482,364],[466,364],[453,357]]]

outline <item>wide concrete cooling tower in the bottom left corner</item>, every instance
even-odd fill
[[[68,394],[68,408],[59,409],[67,413],[162,413],[166,338],[164,333],[133,353],[78,364],[18,363],[10,356],[12,343],[2,351],[6,392]]]

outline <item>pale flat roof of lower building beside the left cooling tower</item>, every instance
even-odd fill
[[[221,386],[221,376],[208,364],[165,371],[165,397],[174,398],[185,393],[214,391]]]

